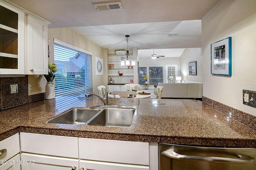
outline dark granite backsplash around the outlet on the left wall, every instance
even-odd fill
[[[18,84],[18,93],[10,94],[10,84]],[[28,95],[28,75],[0,78],[1,109],[14,107],[45,98],[44,93]]]

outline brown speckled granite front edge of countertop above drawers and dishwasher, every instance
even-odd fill
[[[35,127],[17,127],[6,133],[0,135],[0,141],[6,139],[16,133],[38,133],[46,135],[59,135],[69,137],[83,137],[95,139],[110,139],[121,141],[140,141],[140,142],[156,142],[156,143],[172,143],[184,145],[200,145],[200,146],[214,146],[214,147],[256,147],[256,142],[252,140],[239,139],[207,139],[195,137],[166,137],[155,135],[140,135],[140,134],[118,134],[118,133],[99,133],[88,131],[72,131],[59,129],[44,129]]]

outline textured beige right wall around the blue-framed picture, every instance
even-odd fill
[[[242,90],[256,91],[256,0],[221,0],[202,19],[205,97],[256,115],[242,103]],[[210,45],[232,37],[232,76],[211,74]]]

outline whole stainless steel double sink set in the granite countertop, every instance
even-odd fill
[[[73,108],[46,121],[73,125],[96,125],[111,127],[129,127],[136,109],[134,108]]]

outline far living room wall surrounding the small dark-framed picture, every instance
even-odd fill
[[[196,61],[197,75],[189,75],[188,63]],[[203,57],[200,48],[185,49],[180,56],[180,76],[182,80],[192,80],[196,82],[203,82]]]

